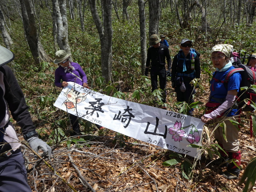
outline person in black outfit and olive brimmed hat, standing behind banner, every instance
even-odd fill
[[[147,54],[147,61],[146,61],[146,70],[145,76],[148,76],[148,67],[151,61],[151,70],[150,70],[150,77],[151,77],[151,85],[152,90],[157,89],[157,76],[159,76],[159,85],[160,89],[163,91],[163,99],[162,101],[166,102],[166,69],[165,69],[165,58],[167,60],[167,76],[171,74],[171,57],[169,53],[169,49],[166,45],[160,44],[161,39],[157,35],[152,35],[149,37],[149,44],[152,47],[148,48]]]

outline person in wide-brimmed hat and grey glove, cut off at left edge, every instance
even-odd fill
[[[20,142],[15,128],[9,121],[12,118],[22,128],[22,134],[30,147],[43,155],[51,155],[52,149],[38,138],[31,116],[28,112],[23,92],[12,73],[5,64],[14,59],[11,51],[0,45],[0,191],[32,191],[27,181],[25,161],[20,151]]]

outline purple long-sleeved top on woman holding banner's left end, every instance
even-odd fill
[[[57,87],[62,88],[60,80],[66,81],[66,82],[75,82],[82,86],[83,86],[83,83],[87,83],[87,76],[85,75],[81,66],[78,63],[74,63],[74,62],[70,62],[70,65],[72,65],[75,68],[75,70],[73,70],[72,73],[76,74],[81,79],[83,79],[83,82],[79,78],[74,76],[73,74],[71,74],[69,72],[65,73],[64,72],[65,69],[63,67],[59,66],[55,70],[55,82],[54,83]]]

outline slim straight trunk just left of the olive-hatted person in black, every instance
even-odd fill
[[[145,2],[138,0],[140,17],[140,55],[141,55],[141,75],[145,74],[147,60],[147,34],[145,21]]]

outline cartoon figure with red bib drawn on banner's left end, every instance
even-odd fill
[[[75,111],[76,104],[81,103],[86,99],[85,93],[76,91],[74,87],[70,85],[68,86],[68,90],[64,93],[64,96],[67,97],[67,100],[63,102],[62,106],[65,106],[72,111]]]

